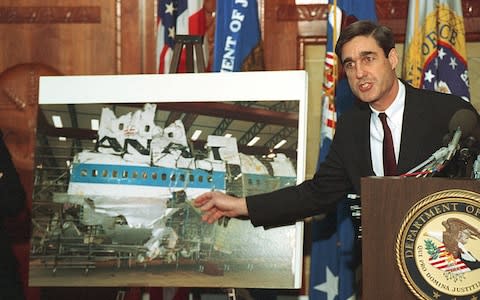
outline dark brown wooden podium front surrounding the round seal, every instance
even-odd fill
[[[433,193],[480,193],[480,181],[448,178],[365,177],[362,194],[362,299],[416,299],[402,279],[395,243],[416,202]]]

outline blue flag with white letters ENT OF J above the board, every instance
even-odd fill
[[[214,72],[238,72],[260,44],[256,0],[217,0]]]

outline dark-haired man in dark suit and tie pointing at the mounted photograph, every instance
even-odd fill
[[[411,87],[395,73],[398,53],[392,31],[358,21],[340,35],[335,52],[358,105],[337,122],[326,160],[315,176],[300,185],[271,193],[235,198],[219,192],[200,195],[194,204],[203,220],[248,216],[255,226],[290,224],[335,209],[348,193],[360,194],[360,178],[384,176],[379,113],[391,129],[396,175],[417,166],[443,145],[455,112],[478,113],[463,99]]]

